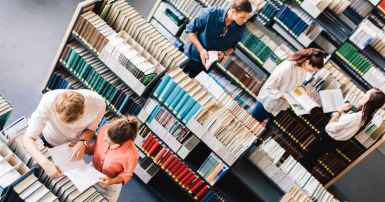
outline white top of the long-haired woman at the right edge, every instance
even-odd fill
[[[342,114],[335,122],[328,123],[325,131],[335,140],[348,140],[361,127],[361,113]]]

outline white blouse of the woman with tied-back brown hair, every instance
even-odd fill
[[[282,99],[283,93],[290,93],[300,87],[306,78],[306,70],[292,61],[283,61],[277,66],[266,83],[262,86],[257,100],[270,113],[286,110],[289,103]]]

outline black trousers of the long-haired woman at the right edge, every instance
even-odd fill
[[[323,130],[309,146],[301,160],[301,164],[307,171],[311,172],[318,160],[326,153],[335,151],[345,141],[337,141]]]

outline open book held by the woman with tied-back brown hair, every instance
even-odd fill
[[[294,112],[299,115],[310,114],[310,111],[319,105],[309,97],[305,89],[299,87],[290,93],[283,93]]]

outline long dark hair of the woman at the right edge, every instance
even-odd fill
[[[368,102],[362,107],[359,106],[354,112],[362,111],[361,127],[358,132],[361,132],[373,119],[374,114],[385,104],[385,94],[378,88],[373,88],[374,91],[370,94]]]

